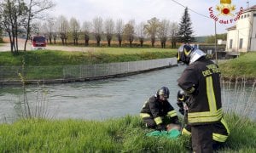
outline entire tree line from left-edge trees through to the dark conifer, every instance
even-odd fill
[[[60,38],[63,45],[67,45],[67,40],[72,39],[74,45],[78,45],[79,40],[84,40],[84,45],[88,46],[93,37],[96,45],[100,46],[102,37],[106,37],[108,46],[111,46],[113,37],[122,46],[124,40],[130,43],[135,38],[143,47],[145,39],[150,39],[154,48],[156,40],[160,40],[161,48],[166,48],[166,41],[172,42],[172,48],[176,48],[177,42],[194,42],[192,22],[189,18],[188,8],[185,8],[182,20],[171,22],[170,20],[160,20],[156,17],[136,24],[135,20],[113,20],[102,17],[95,17],[93,20],[85,20],[83,24],[76,18],[67,20],[67,17],[60,15],[51,18],[44,14],[45,10],[54,8],[55,3],[50,0],[3,0],[0,2],[0,31],[4,31],[9,36],[11,52],[18,53],[18,37],[26,37],[26,43],[32,35],[44,35],[49,43],[56,43]]]

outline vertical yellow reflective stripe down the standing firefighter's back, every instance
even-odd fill
[[[217,111],[216,99],[212,85],[212,77],[207,77],[207,99],[210,111]]]

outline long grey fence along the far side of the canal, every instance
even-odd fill
[[[0,66],[0,82],[20,82],[19,73],[27,82],[66,82],[150,71],[172,65],[177,65],[176,58],[95,65]]]

